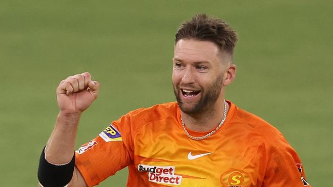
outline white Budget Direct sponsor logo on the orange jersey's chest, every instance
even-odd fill
[[[174,166],[138,165],[139,172],[148,172],[148,180],[162,184],[181,184],[181,175],[175,175]]]

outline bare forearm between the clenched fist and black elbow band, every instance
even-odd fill
[[[46,160],[53,164],[64,164],[73,158],[75,139],[80,114],[59,112],[53,132],[45,149]]]

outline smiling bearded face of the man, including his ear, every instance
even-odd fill
[[[181,111],[200,114],[223,105],[223,88],[233,80],[235,69],[230,55],[221,52],[215,43],[179,40],[174,51],[172,83]]]

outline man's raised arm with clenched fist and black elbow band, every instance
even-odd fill
[[[47,187],[54,180],[58,183],[66,182],[64,184],[66,186],[69,181],[64,178],[69,178],[71,182],[68,186],[87,186],[79,171],[74,167],[75,157],[73,155],[81,113],[97,98],[98,89],[99,83],[92,81],[91,75],[87,72],[70,76],[60,82],[56,90],[59,114],[47,142],[45,155],[42,154],[40,158],[39,185]],[[46,160],[43,160],[43,157]],[[54,172],[58,172],[57,175],[54,175]],[[50,173],[52,175],[48,175]],[[71,173],[71,176],[68,173]]]

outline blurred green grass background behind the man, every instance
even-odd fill
[[[58,112],[55,89],[89,71],[100,95],[77,146],[138,107],[174,101],[174,34],[196,13],[236,29],[236,81],[226,98],[275,125],[313,186],[333,176],[332,1],[0,2],[0,185],[36,186]],[[125,186],[122,170],[99,186]]]

